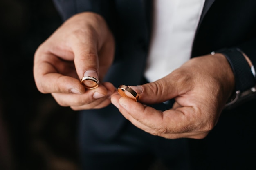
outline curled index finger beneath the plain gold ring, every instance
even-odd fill
[[[125,114],[125,117],[129,117],[129,120],[135,126],[153,135],[181,134],[193,132],[195,128],[193,126],[195,122],[195,116],[193,116],[195,115],[195,109],[193,107],[182,107],[177,110],[162,112],[126,97],[121,97],[119,104],[121,106],[119,110]]]

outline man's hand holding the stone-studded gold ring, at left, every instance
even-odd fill
[[[34,79],[38,90],[52,93],[61,106],[74,110],[102,108],[110,104],[115,87],[99,83],[87,90],[84,76],[101,81],[114,57],[115,43],[104,19],[95,13],[80,13],[63,23],[34,56]]]

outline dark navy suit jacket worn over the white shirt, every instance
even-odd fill
[[[116,87],[143,83],[151,32],[151,0],[54,2],[63,20],[83,11],[99,13],[106,19],[117,44],[115,62],[106,81]],[[256,66],[256,0],[206,0],[191,57],[230,47],[242,49]],[[252,99],[232,110],[224,110],[205,139],[189,140],[195,169],[256,169],[255,102]],[[86,112],[82,118],[83,128],[97,131],[102,138],[114,137],[126,122],[111,105]]]

